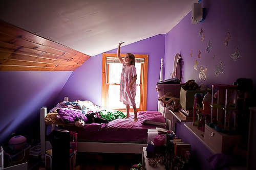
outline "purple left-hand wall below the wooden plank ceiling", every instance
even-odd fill
[[[71,72],[0,71],[1,145],[13,132],[39,139],[40,107],[52,107]]]

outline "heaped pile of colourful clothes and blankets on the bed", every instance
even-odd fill
[[[82,127],[85,124],[109,123],[117,118],[124,118],[126,114],[121,111],[102,110],[100,106],[91,101],[60,102],[50,110],[45,117],[46,124],[74,124]]]

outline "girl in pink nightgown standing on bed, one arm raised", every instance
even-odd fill
[[[136,68],[135,68],[135,56],[131,53],[125,55],[124,60],[120,56],[120,46],[124,42],[120,42],[117,48],[117,58],[122,64],[122,73],[120,80],[120,102],[126,105],[127,116],[130,117],[130,105],[134,111],[134,122],[137,122],[137,109],[135,104],[136,95]]]

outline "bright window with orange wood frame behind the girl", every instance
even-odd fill
[[[121,54],[124,58],[125,54]],[[135,67],[137,73],[137,91],[135,103],[137,111],[146,110],[146,90],[147,90],[147,55],[135,55]],[[125,105],[119,101],[120,76],[122,65],[117,54],[102,54],[102,101],[101,105],[105,109],[115,109],[125,111]],[[132,107],[130,107],[132,111]]]

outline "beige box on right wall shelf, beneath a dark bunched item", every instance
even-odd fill
[[[185,86],[180,87],[180,105],[184,110],[190,110],[194,108],[194,95],[196,93],[207,93],[208,90],[184,90]]]

